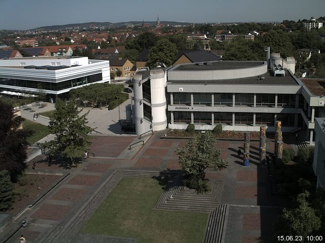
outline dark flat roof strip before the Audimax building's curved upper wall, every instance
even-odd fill
[[[272,72],[271,72],[272,73]],[[224,80],[171,80],[168,84],[220,84],[220,85],[299,85],[296,79],[285,70],[285,76],[273,76],[270,72],[263,75],[264,79],[257,79],[257,76],[233,78]]]

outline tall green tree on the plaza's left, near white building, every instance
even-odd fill
[[[55,139],[43,144],[50,148],[50,153],[66,157],[70,165],[75,165],[76,158],[88,149],[90,136],[94,129],[86,126],[87,113],[79,115],[75,101],[65,102],[58,99],[55,111],[50,115],[49,130]]]

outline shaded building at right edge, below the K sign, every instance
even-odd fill
[[[325,188],[325,119],[315,119],[315,150],[313,170],[317,176],[317,187]]]

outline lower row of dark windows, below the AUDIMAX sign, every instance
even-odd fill
[[[232,112],[214,112],[214,124],[233,125]],[[294,127],[295,114],[277,114],[277,120],[282,121],[283,127]],[[193,112],[194,124],[212,124],[211,112]],[[191,123],[191,112],[174,112],[174,123],[189,124]],[[253,113],[235,113],[235,125],[253,126]],[[255,113],[255,125],[257,126],[274,126],[274,114]]]

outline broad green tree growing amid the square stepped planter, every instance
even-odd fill
[[[229,166],[228,161],[220,158],[216,149],[216,138],[211,132],[193,135],[183,148],[176,149],[179,164],[185,173],[184,184],[196,189],[198,193],[209,190],[205,170],[220,171]]]

